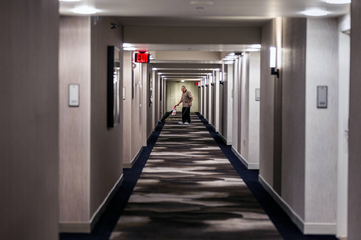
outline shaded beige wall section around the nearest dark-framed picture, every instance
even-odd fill
[[[91,24],[90,216],[123,173],[122,114],[120,124],[114,128],[107,128],[106,121],[108,46],[120,49],[121,66],[123,57],[122,27],[110,29],[112,22],[118,23],[115,18],[103,17],[96,25]],[[122,82],[121,79],[120,89]]]

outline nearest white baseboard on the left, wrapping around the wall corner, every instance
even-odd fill
[[[82,221],[82,222],[59,222],[59,232],[75,232],[75,233],[90,233],[98,222],[101,214],[104,213],[106,207],[109,204],[109,201],[113,198],[115,192],[119,188],[119,186],[123,182],[123,173],[119,177],[118,181],[114,184],[112,189],[110,189],[108,195],[106,195],[103,202],[99,205],[98,209],[93,213],[93,216],[90,218],[89,221]]]

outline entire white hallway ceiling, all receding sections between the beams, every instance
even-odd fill
[[[261,27],[275,17],[305,17],[303,11],[321,9],[330,16],[349,13],[349,4],[327,4],[325,0],[82,0],[59,2],[61,15],[80,15],[73,8],[90,6],[97,9],[93,15],[116,16],[123,26],[177,26],[177,27]],[[166,33],[165,33],[166,34]],[[131,43],[130,43],[131,44]],[[132,44],[136,49],[153,51],[245,51],[250,46],[235,44]],[[227,53],[228,54],[228,53]],[[191,55],[191,54],[190,54]],[[220,59],[223,58],[220,54]],[[219,60],[196,59],[155,59],[153,66],[167,63],[176,67],[159,68],[162,76],[169,81],[197,78],[194,73],[204,76],[213,72],[210,65]],[[190,67],[202,64],[204,67]],[[210,65],[208,65],[210,64]],[[192,74],[191,74],[192,73]],[[168,81],[168,80],[167,80]],[[194,81],[194,80],[193,80]]]

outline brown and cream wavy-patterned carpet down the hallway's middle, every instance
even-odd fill
[[[166,122],[110,239],[282,239],[196,114],[191,121]]]

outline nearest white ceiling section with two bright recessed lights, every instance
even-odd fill
[[[319,8],[329,16],[349,12],[349,4],[325,0],[82,0],[60,1],[59,12],[87,5],[96,15],[119,16],[123,26],[261,26],[274,17],[302,17],[303,11]]]

